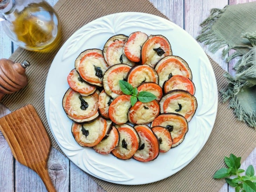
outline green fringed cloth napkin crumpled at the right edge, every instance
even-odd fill
[[[212,53],[227,46],[223,58],[238,59],[236,75],[224,74],[228,86],[220,92],[223,102],[230,100],[237,118],[256,129],[256,2],[211,9],[201,26],[198,41],[209,45]],[[229,55],[231,49],[236,51]]]

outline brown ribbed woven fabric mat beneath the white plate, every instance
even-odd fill
[[[157,16],[161,14],[147,0],[59,0],[54,6],[61,19],[62,38],[53,48],[53,52],[40,53],[30,52],[18,48],[10,57],[15,62],[28,60],[32,65],[27,69],[28,85],[19,92],[6,95],[2,103],[11,111],[19,109],[26,104],[32,104],[45,125],[52,145],[61,151],[50,132],[44,107],[44,89],[47,73],[54,56],[62,44],[76,30],[86,23],[104,15],[118,12],[144,12]],[[209,58],[210,59],[210,58]],[[227,82],[223,77],[224,71],[216,62],[210,59],[213,66],[218,90],[226,86]],[[181,171],[173,176],[155,183],[146,185],[118,185],[93,178],[107,191],[217,191],[224,184],[224,180],[213,179],[213,174],[217,169],[224,166],[224,156],[234,153],[241,156],[242,161],[256,147],[256,133],[245,123],[238,121],[232,109],[228,108],[228,103],[221,102],[218,96],[218,112],[216,122],[211,135],[195,159]],[[196,138],[195,138],[196,139]],[[62,152],[62,151],[61,151]],[[168,162],[167,162],[168,163]],[[161,173],[150,173],[154,174]]]

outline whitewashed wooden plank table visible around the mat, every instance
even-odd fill
[[[47,0],[54,5],[58,0]],[[150,0],[154,6],[171,21],[185,29],[194,38],[199,34],[199,24],[209,15],[211,8],[223,8],[256,0]],[[201,44],[207,54],[220,66],[234,74],[234,63],[226,63],[221,58],[221,51],[211,54],[207,47]],[[17,48],[9,40],[0,25],[0,58],[8,58]],[[10,111],[0,103],[0,116]],[[232,151],[228,152],[232,153]],[[223,157],[224,159],[224,157]],[[256,168],[256,149],[243,162],[242,169],[252,164]],[[54,148],[50,152],[48,162],[49,174],[57,191],[104,191],[85,172],[64,157]],[[46,191],[40,177],[32,170],[21,165],[12,156],[11,150],[0,132],[0,191]],[[234,191],[225,184],[220,191]]]

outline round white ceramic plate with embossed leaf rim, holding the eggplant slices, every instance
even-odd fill
[[[184,141],[157,159],[142,163],[100,155],[78,145],[71,133],[72,121],[62,108],[62,97],[69,88],[67,75],[76,57],[85,49],[102,49],[109,37],[141,31],[161,34],[170,41],[173,55],[186,60],[193,74],[198,108],[189,122]],[[191,162],[206,143],[217,112],[217,85],[213,68],[200,45],[185,30],[161,17],[145,13],[116,13],[81,27],[63,44],[49,69],[45,86],[47,121],[66,156],[85,172],[97,178],[127,185],[146,184],[164,179]]]

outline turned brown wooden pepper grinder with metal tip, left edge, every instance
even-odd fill
[[[0,59],[0,101],[5,94],[19,91],[28,84],[25,74],[28,66],[30,63],[26,60],[14,63],[9,59]]]

